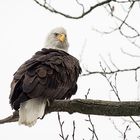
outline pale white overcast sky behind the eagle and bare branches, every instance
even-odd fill
[[[60,1],[57,5],[59,8],[65,7]],[[75,14],[79,14],[80,8],[72,8],[72,10],[67,10],[67,8],[64,8],[64,10],[68,12],[75,10]],[[47,33],[54,27],[63,26],[66,28],[70,43],[69,52],[81,60],[82,67],[86,69],[100,70],[99,62],[101,57],[109,63],[109,55],[111,55],[113,62],[119,68],[137,66],[139,63],[138,58],[132,59],[122,54],[120,50],[120,48],[123,48],[128,52],[138,54],[138,50],[132,48],[127,39],[120,36],[118,32],[110,36],[101,35],[93,30],[93,28],[99,29],[100,27],[103,30],[109,29],[116,24],[110,18],[107,18],[106,15],[104,9],[99,8],[84,19],[71,20],[44,10],[33,0],[0,1],[0,118],[12,113],[8,97],[13,73],[24,61],[43,48]],[[137,24],[135,26],[138,27],[140,23]],[[109,65],[111,66],[110,63]],[[130,73],[130,76],[129,80],[127,80],[127,89],[123,87],[128,74],[124,74],[119,79],[118,88],[123,100],[137,100],[139,98],[138,82],[134,80],[134,73]],[[80,77],[78,85],[78,92],[73,98],[84,98],[88,88],[91,88],[91,96],[89,96],[91,98],[116,100],[116,97],[111,94],[105,79],[103,80],[99,75]],[[65,120],[65,134],[69,134],[69,137],[72,135],[72,121],[76,120],[77,140],[82,140],[82,138],[88,140],[91,138],[91,133],[88,130],[89,124],[85,121],[87,119],[86,115],[62,113],[62,119]],[[92,119],[100,140],[122,139],[119,137],[118,132],[115,131],[108,117],[94,116]],[[119,119],[115,119],[115,121],[118,126],[122,125]],[[111,131],[110,134],[112,129],[114,131]],[[123,131],[125,126],[122,126],[120,129]],[[135,136],[134,134],[129,134],[130,140],[137,139],[138,131],[138,129],[135,130]],[[0,125],[0,138],[6,140],[25,140],[29,138],[34,140],[56,140],[60,139],[59,133],[60,129],[56,113],[46,115],[43,120],[39,120],[32,128],[19,126],[18,123]]]

